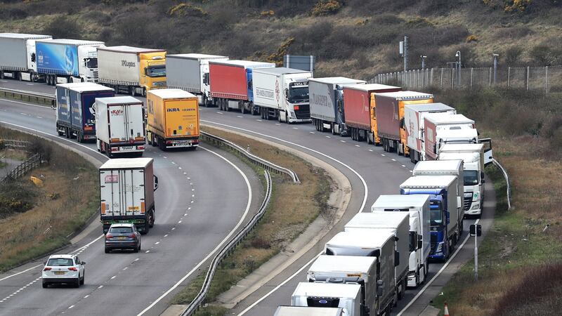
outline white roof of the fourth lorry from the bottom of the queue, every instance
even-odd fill
[[[326,243],[326,247],[351,247],[360,249],[379,249],[388,239],[394,237],[391,229],[338,232]]]

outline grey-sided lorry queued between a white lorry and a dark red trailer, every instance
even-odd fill
[[[344,85],[365,84],[366,81],[346,77],[325,77],[308,80],[311,96],[311,119],[316,131],[348,136],[344,117]]]

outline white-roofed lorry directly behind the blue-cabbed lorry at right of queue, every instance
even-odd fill
[[[455,176],[457,177],[457,200],[464,199],[464,162],[462,159],[455,160],[428,160],[418,162],[412,170],[412,176]],[[464,206],[457,204],[457,216],[464,218]],[[464,229],[464,221],[460,221],[459,230]]]

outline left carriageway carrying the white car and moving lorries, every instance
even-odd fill
[[[0,86],[5,87],[4,83]],[[48,107],[0,100],[0,124],[65,143],[99,162],[107,159],[93,144],[84,146],[55,136],[55,112]],[[149,306],[145,315],[159,315],[177,289],[155,301],[172,287],[187,284],[197,275],[192,272],[204,269],[209,254],[261,204],[261,183],[254,171],[214,147],[203,145],[190,152],[148,147],[145,157],[155,159],[159,188],[155,227],[143,235],[141,253],[104,254],[102,229],[96,220],[83,239],[64,250],[86,261],[84,286],[42,289],[44,259],[28,263],[0,275],[0,315],[137,315]]]

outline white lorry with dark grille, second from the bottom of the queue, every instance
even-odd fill
[[[366,316],[361,304],[359,284],[300,282],[291,296],[291,305],[342,308],[346,316]]]

